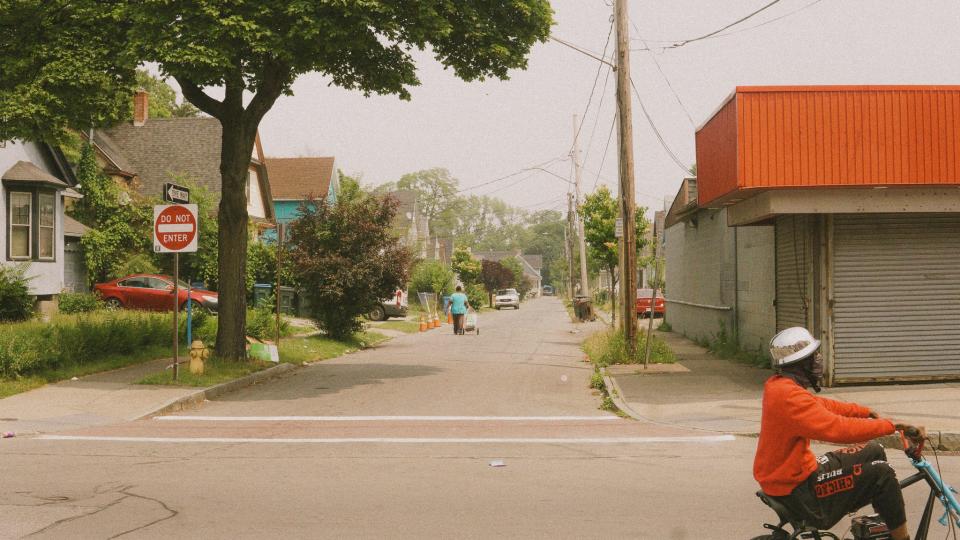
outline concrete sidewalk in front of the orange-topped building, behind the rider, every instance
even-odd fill
[[[714,357],[685,337],[658,332],[679,365],[611,366],[614,399],[642,420],[704,431],[756,435],[763,383],[772,374]],[[946,450],[960,450],[960,383],[826,388],[819,395],[853,401],[880,414],[926,426]]]

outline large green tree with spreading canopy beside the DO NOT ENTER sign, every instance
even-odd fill
[[[18,114],[0,124],[19,126],[7,137],[41,135],[47,118],[81,128],[119,118],[142,62],[220,121],[216,349],[224,358],[245,354],[250,154],[264,115],[296,78],[319,72],[342,88],[410,99],[420,84],[413,51],[429,48],[461,79],[506,79],[526,67],[552,23],[548,0],[8,0],[2,9],[0,111]],[[30,95],[18,96],[19,87]]]

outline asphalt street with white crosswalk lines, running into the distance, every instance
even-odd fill
[[[598,327],[571,324],[559,300],[480,325],[397,338],[174,417],[3,440],[0,537],[763,532],[773,513],[754,496],[755,439],[600,411],[579,349]],[[958,458],[940,463],[960,482]],[[925,494],[907,495],[915,516]]]

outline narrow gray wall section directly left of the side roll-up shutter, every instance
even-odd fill
[[[776,331],[776,264],[773,226],[737,227],[740,346],[766,350]]]

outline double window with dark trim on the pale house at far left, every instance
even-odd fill
[[[53,261],[57,247],[57,196],[49,190],[8,192],[7,258]]]

